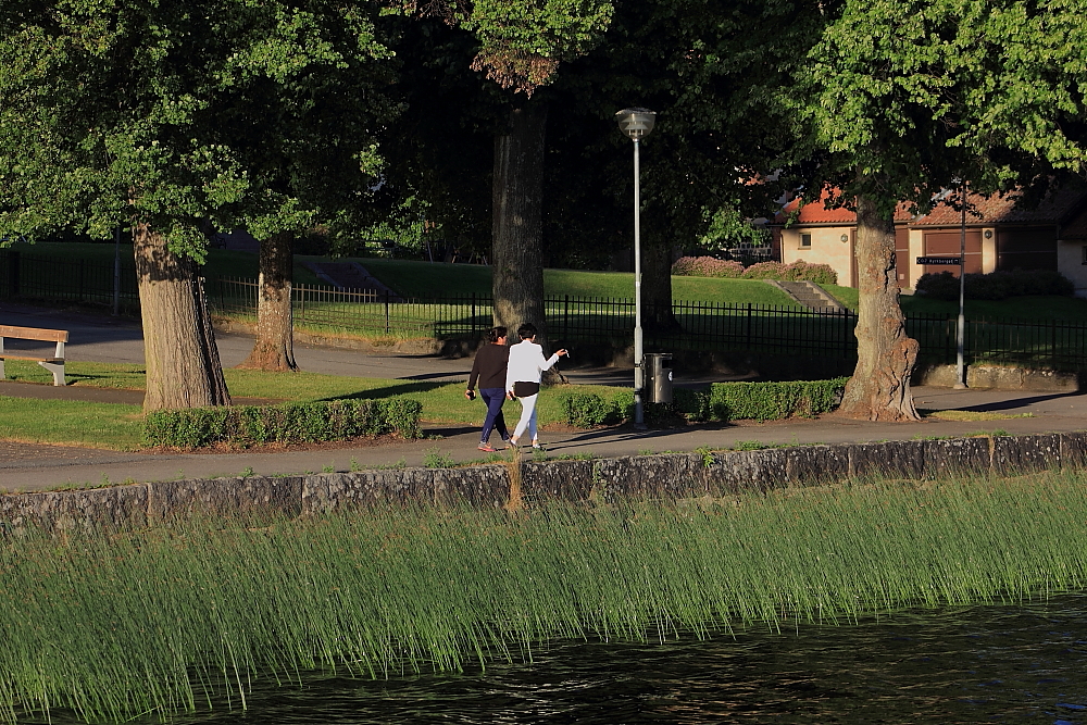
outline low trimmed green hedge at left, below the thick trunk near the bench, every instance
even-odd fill
[[[423,404],[410,398],[162,410],[143,418],[143,442],[203,448],[313,443],[382,434],[418,438],[422,412]]]

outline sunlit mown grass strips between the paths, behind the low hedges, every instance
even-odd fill
[[[38,365],[12,360],[5,365],[13,380],[47,384],[52,377]],[[143,389],[142,365],[71,362],[68,385],[80,387]],[[483,402],[464,398],[464,383],[389,380],[371,377],[322,375],[318,373],[265,373],[227,368],[223,371],[233,396],[273,400],[313,401],[345,398],[388,398],[405,396],[423,404],[423,421],[479,425]],[[562,397],[567,390],[596,392],[611,398],[619,389],[601,385],[561,386],[545,389],[539,400],[541,425],[562,423]],[[508,404],[507,422],[520,413],[518,404]],[[48,414],[45,414],[48,413]],[[140,443],[138,405],[92,403],[75,400],[38,400],[0,397],[0,438],[42,443],[79,443],[99,448],[134,450]]]

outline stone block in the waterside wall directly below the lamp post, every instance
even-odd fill
[[[594,482],[608,499],[678,499],[707,492],[705,463],[697,453],[628,455],[594,463]]]

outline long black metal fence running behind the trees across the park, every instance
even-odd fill
[[[251,279],[209,280],[208,292],[220,314],[255,318],[258,285]],[[26,252],[0,252],[0,297],[93,302],[108,305],[114,293],[113,265],[60,260]],[[122,267],[122,305],[139,304],[135,271]],[[476,335],[491,325],[491,299],[460,295],[399,300],[368,290],[299,285],[292,291],[300,327],[348,334],[438,338]],[[633,337],[630,299],[548,297],[545,318],[550,337],[563,343]],[[765,304],[677,301],[675,332],[647,330],[647,342],[665,349],[738,350],[804,358],[857,355],[848,310],[823,311]],[[925,361],[953,363],[955,316],[911,315],[907,332],[921,343]],[[1076,368],[1087,365],[1087,321],[967,320],[965,358],[970,364],[998,363]]]

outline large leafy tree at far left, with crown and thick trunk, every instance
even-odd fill
[[[133,229],[146,410],[229,402],[199,264],[210,228],[268,218],[270,187],[224,139],[224,101],[254,78],[297,95],[340,63],[322,14],[372,41],[355,8],[320,0],[0,8],[0,228]]]

